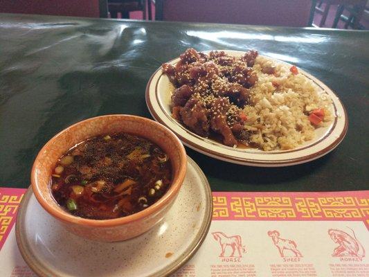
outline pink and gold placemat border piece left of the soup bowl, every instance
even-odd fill
[[[0,250],[12,230],[25,192],[25,188],[0,188]]]

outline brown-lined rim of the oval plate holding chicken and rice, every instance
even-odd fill
[[[244,53],[244,51],[233,51],[233,50],[213,50],[213,51],[225,51],[225,52],[228,52],[228,53]],[[201,52],[208,53],[210,51],[201,51]],[[278,60],[274,57],[269,57],[267,55],[262,55],[262,56],[263,57],[268,57],[269,59],[280,62],[282,64],[294,65],[294,64],[289,64],[288,62],[284,62],[282,60]],[[176,58],[174,58],[174,59],[172,59],[172,60],[170,60],[166,63],[172,63],[172,62],[175,62],[176,60],[179,60],[179,57],[176,57]],[[318,78],[314,77],[314,75],[311,75],[311,74],[307,73],[306,71],[304,71],[303,69],[300,69],[299,67],[298,67],[298,69],[303,73],[303,75],[305,75],[305,77],[309,78],[310,80],[312,80],[313,82],[315,82],[319,86],[323,85],[322,89],[324,91],[326,91],[326,92],[330,91],[330,93],[332,93],[336,97],[337,102],[339,103],[340,107],[343,110],[343,116],[344,116],[343,129],[342,129],[341,133],[339,134],[339,136],[336,137],[334,139],[334,141],[332,141],[329,145],[325,146],[325,148],[323,148],[321,150],[318,150],[316,152],[312,152],[312,154],[305,154],[303,157],[296,157],[296,158],[284,159],[284,160],[261,160],[261,159],[248,159],[248,158],[244,158],[244,157],[242,157],[242,158],[233,157],[232,155],[229,155],[229,154],[219,153],[217,150],[210,150],[208,148],[204,148],[204,146],[198,145],[197,143],[193,143],[190,139],[182,136],[181,134],[179,134],[179,132],[177,132],[175,129],[173,129],[167,123],[165,123],[165,121],[161,118],[161,116],[159,116],[159,114],[155,111],[155,109],[152,105],[152,102],[150,100],[150,87],[152,86],[153,79],[155,77],[157,77],[157,75],[159,75],[159,73],[161,73],[158,77],[158,80],[154,84],[154,86],[156,87],[157,84],[159,83],[161,75],[163,75],[163,71],[161,69],[161,66],[158,69],[156,69],[156,71],[154,71],[154,73],[151,75],[150,79],[147,82],[146,89],[145,89],[145,102],[146,102],[147,108],[149,109],[150,114],[152,115],[154,120],[156,120],[159,123],[165,125],[165,127],[168,127],[172,132],[174,132],[174,134],[176,134],[179,137],[179,139],[182,141],[182,143],[184,145],[188,146],[192,150],[200,152],[201,154],[205,154],[208,157],[213,157],[215,159],[219,159],[219,160],[222,160],[222,161],[227,161],[227,162],[230,162],[230,163],[237,163],[237,164],[244,165],[244,166],[257,166],[257,167],[294,166],[294,165],[297,165],[297,164],[300,164],[300,163],[307,163],[309,161],[313,161],[315,159],[323,157],[325,154],[328,154],[329,152],[334,150],[341,143],[341,141],[343,141],[343,139],[345,138],[345,135],[348,132],[348,113],[347,113],[347,111],[345,109],[345,106],[343,105],[343,102],[341,101],[341,99],[336,95],[336,93],[332,89],[330,89],[330,87],[328,87],[324,82],[322,82]],[[156,91],[154,91],[154,92],[156,93]],[[330,96],[330,97],[332,98],[332,96]],[[158,100],[158,105],[160,106],[159,100]],[[334,106],[334,109],[336,109],[336,105],[334,105],[334,103],[333,103],[333,106]],[[177,121],[176,121],[176,124],[180,125],[180,123],[177,123]],[[330,132],[332,132],[334,130],[334,127],[335,126],[332,126],[332,129],[330,130]],[[185,128],[185,129],[186,129],[186,131],[188,131],[189,136],[195,136],[195,133],[192,133],[187,128]],[[326,138],[327,137],[329,137],[329,134],[326,136]],[[324,141],[324,138],[321,141]],[[205,142],[208,143],[207,141],[205,141]],[[307,146],[307,148],[310,148],[310,147],[312,147],[312,145]],[[296,151],[299,151],[299,150],[295,150],[295,152]],[[265,153],[267,153],[267,152],[265,152]],[[281,152],[281,153],[276,153],[276,154],[282,154],[282,153],[287,153],[287,152]]]

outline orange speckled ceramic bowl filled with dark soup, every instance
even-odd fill
[[[129,115],[83,120],[55,135],[33,164],[39,204],[89,240],[128,240],[163,220],[186,175],[169,129]]]

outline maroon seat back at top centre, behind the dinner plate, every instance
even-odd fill
[[[163,20],[307,26],[310,0],[166,0]]]

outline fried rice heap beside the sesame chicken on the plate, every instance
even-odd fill
[[[275,66],[273,74],[262,69]],[[314,139],[316,127],[309,121],[309,112],[323,109],[325,116],[317,126],[329,125],[334,118],[330,96],[291,66],[258,56],[253,71],[258,82],[250,89],[251,101],[244,107],[245,129],[252,145],[264,151],[289,150]]]

